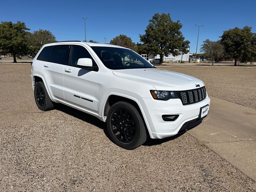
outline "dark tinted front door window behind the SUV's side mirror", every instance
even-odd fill
[[[92,59],[92,65],[97,66],[95,61],[93,60],[90,53],[82,46],[79,45],[72,45],[71,51],[70,51],[70,66],[77,66],[77,61],[80,58],[90,58]]]

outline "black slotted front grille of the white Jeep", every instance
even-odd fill
[[[206,98],[205,87],[197,89],[179,91],[179,97],[183,105],[189,105],[200,102]]]

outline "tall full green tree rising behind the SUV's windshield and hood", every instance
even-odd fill
[[[140,34],[140,41],[143,42],[153,54],[160,55],[160,64],[163,62],[164,55],[188,53],[188,40],[184,37],[180,29],[182,24],[178,20],[173,22],[170,14],[154,14],[146,27],[145,34]]]

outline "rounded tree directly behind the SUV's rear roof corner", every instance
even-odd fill
[[[37,54],[44,44],[53,42],[56,42],[56,38],[49,30],[34,31],[29,37],[30,53]]]

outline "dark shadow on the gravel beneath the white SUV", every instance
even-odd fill
[[[63,104],[56,104],[55,106],[55,110],[59,110],[61,112],[64,112],[68,115],[73,116],[74,118],[78,118],[84,122],[90,123],[100,129],[102,129],[104,131],[104,134],[112,141],[112,139],[110,138],[109,134],[108,134],[108,130],[107,130],[107,125],[105,122],[99,120],[98,118],[87,114],[85,112],[76,110],[74,108],[71,108],[69,106],[63,105]],[[148,140],[143,144],[143,146],[154,146],[154,145],[160,145],[162,143],[168,142],[170,140],[174,140],[180,136],[182,136],[185,132],[179,133],[175,136],[172,137],[168,137],[168,138],[163,138],[163,139],[151,139],[148,138]],[[113,141],[112,141],[113,142]]]

